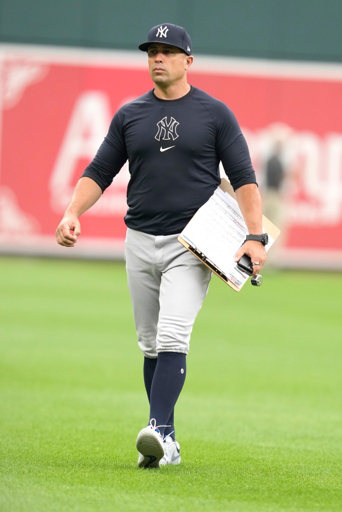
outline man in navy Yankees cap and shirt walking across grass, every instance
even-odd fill
[[[74,246],[81,233],[78,217],[100,198],[128,159],[125,259],[150,402],[149,424],[136,440],[139,467],[180,462],[174,406],[211,271],[177,236],[220,183],[220,161],[249,233],[258,235],[245,242],[236,261],[248,254],[257,273],[266,259],[258,241],[263,233],[261,201],[246,141],[224,103],[188,84],[191,48],[182,27],[166,23],[150,30],[139,49],[148,54],[154,89],[115,114],[56,231],[59,244]]]

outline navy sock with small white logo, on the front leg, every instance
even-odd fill
[[[150,419],[155,418],[157,425],[160,425],[162,436],[173,430],[173,409],[186,373],[186,354],[159,352],[150,393]],[[165,429],[161,425],[171,425],[172,429]],[[174,438],[174,434],[171,437]]]

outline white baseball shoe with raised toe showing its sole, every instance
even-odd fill
[[[160,459],[164,457],[164,443],[154,418],[149,426],[140,430],[136,449],[139,452],[138,467],[159,467]]]

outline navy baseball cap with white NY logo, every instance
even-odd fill
[[[147,42],[139,45],[139,50],[147,52],[152,42],[164,42],[166,45],[176,46],[183,50],[187,55],[191,55],[191,39],[183,27],[172,25],[172,23],[163,23],[153,27],[148,36]]]

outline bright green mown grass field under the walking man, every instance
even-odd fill
[[[342,275],[213,278],[176,407],[182,463],[138,470],[148,419],[124,265],[0,259],[0,510],[341,511]],[[191,297],[189,297],[191,300]]]

